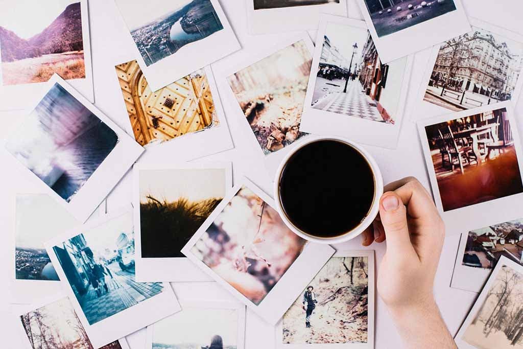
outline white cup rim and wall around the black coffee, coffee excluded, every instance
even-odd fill
[[[367,216],[365,217],[365,219],[363,219],[361,221],[361,223],[357,227],[353,228],[350,231],[347,231],[346,233],[344,233],[342,235],[338,235],[338,236],[332,237],[332,238],[315,237],[314,235],[310,235],[310,234],[302,231],[298,227],[294,226],[294,224],[292,224],[292,222],[287,218],[287,215],[285,214],[285,211],[283,210],[283,207],[281,204],[281,198],[280,198],[281,174],[283,172],[283,169],[287,165],[287,162],[289,161],[290,157],[294,153],[299,151],[301,148],[305,147],[305,145],[314,143],[317,141],[323,141],[323,140],[339,141],[339,142],[345,143],[345,144],[349,145],[350,147],[354,148],[355,150],[357,150],[365,158],[365,160],[369,164],[369,166],[372,170],[372,173],[374,175],[374,198],[372,201],[372,206],[371,206]],[[340,159],[340,161],[341,160],[342,159]],[[278,213],[280,214],[283,222],[285,222],[285,224],[287,225],[287,227],[289,227],[290,230],[292,230],[294,233],[298,234],[303,239],[306,239],[306,240],[309,240],[312,242],[323,243],[323,244],[337,244],[337,243],[345,242],[350,239],[354,239],[359,234],[361,234],[363,232],[363,230],[367,229],[367,227],[370,226],[370,224],[372,223],[374,218],[376,218],[376,216],[378,215],[378,212],[380,210],[380,198],[382,195],[383,195],[383,178],[381,177],[380,168],[378,167],[378,164],[373,159],[373,157],[365,149],[363,149],[361,147],[361,145],[359,145],[355,142],[351,142],[345,138],[337,137],[337,136],[308,136],[305,141],[300,142],[300,144],[297,145],[297,147],[294,147],[292,149],[292,151],[290,151],[283,158],[283,160],[280,163],[280,166],[278,167],[278,171],[276,172],[276,177],[274,180],[274,199],[276,202],[276,209],[278,210]]]

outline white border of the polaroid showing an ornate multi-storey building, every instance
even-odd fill
[[[472,27],[480,28],[483,30],[490,31],[494,34],[497,34],[499,36],[505,37],[507,39],[510,39],[512,41],[516,41],[520,43],[523,46],[523,36],[515,33],[513,31],[507,30],[505,28],[501,28],[498,26],[495,26],[493,24],[490,24],[488,22],[469,17],[470,25]],[[426,102],[425,98],[425,92],[427,91],[428,83],[430,81],[430,76],[432,75],[432,72],[434,71],[434,66],[436,65],[436,61],[438,59],[438,53],[440,51],[441,45],[443,43],[437,44],[430,50],[430,58],[428,60],[425,74],[423,75],[423,80],[421,85],[419,86],[419,92],[418,92],[418,101],[417,102],[417,108],[416,111],[412,112],[411,118],[412,121],[422,120],[430,117],[434,117],[441,114],[448,114],[449,112],[452,112],[451,109],[438,106],[436,104]],[[514,87],[514,93],[508,101],[512,103],[514,106],[518,103],[520,94],[521,94],[521,88],[523,87],[523,65],[521,65],[521,70],[519,71],[519,77],[516,82],[516,86]],[[504,101],[501,101],[504,102]],[[495,102],[490,105],[497,105],[501,102]],[[472,109],[472,108],[471,108]],[[471,109],[465,109],[465,110],[471,110]],[[422,117],[419,117],[422,116]]]

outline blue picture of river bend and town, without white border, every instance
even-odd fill
[[[223,29],[210,0],[118,0],[117,4],[147,66]]]

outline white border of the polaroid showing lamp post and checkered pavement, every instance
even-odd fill
[[[316,48],[312,61],[311,75],[309,77],[309,86],[307,88],[307,95],[303,107],[300,131],[324,136],[333,134],[339,137],[347,137],[363,144],[395,149],[397,147],[401,125],[405,114],[408,85],[411,80],[412,65],[414,62],[413,55],[408,55],[408,57],[400,58],[399,60],[389,63],[389,65],[391,65],[395,62],[400,62],[400,60],[403,59],[406,61],[403,81],[401,83],[399,104],[397,106],[397,112],[393,115],[393,119],[395,120],[394,124],[365,120],[356,116],[347,116],[336,112],[315,109],[311,104],[314,87],[316,85],[317,70],[323,49],[323,36],[325,35],[328,24],[339,24],[368,30],[367,24],[362,20],[332,15],[321,16],[316,38]],[[376,137],[377,134],[380,136]]]

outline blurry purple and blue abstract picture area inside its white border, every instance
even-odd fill
[[[66,202],[119,141],[112,128],[59,83],[21,123],[7,140],[7,151]]]

